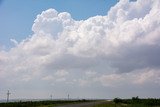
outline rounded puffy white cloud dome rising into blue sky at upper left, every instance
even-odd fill
[[[58,38],[58,35],[73,23],[74,21],[69,13],[63,12],[58,14],[56,10],[48,9],[37,16],[32,30],[36,34],[50,34],[54,38]]]

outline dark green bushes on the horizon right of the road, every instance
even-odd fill
[[[123,103],[123,104],[130,104],[130,105],[146,105],[146,106],[160,106],[160,99],[156,98],[148,98],[148,99],[140,99],[137,97],[132,97],[132,99],[120,99],[115,98],[113,100],[116,104]]]

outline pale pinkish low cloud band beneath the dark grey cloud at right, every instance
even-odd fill
[[[101,75],[97,81],[101,82],[104,86],[119,87],[120,85],[151,85],[160,83],[159,69],[140,69],[129,73],[121,74],[106,74]]]

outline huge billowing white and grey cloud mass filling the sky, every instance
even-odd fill
[[[87,20],[43,11],[31,37],[0,51],[0,85],[39,80],[77,87],[159,87],[159,10],[159,0],[120,0],[106,16]]]

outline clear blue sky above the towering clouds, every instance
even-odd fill
[[[12,47],[10,39],[20,42],[32,34],[32,24],[42,11],[54,8],[69,12],[75,20],[106,15],[117,0],[1,0],[0,45]]]

